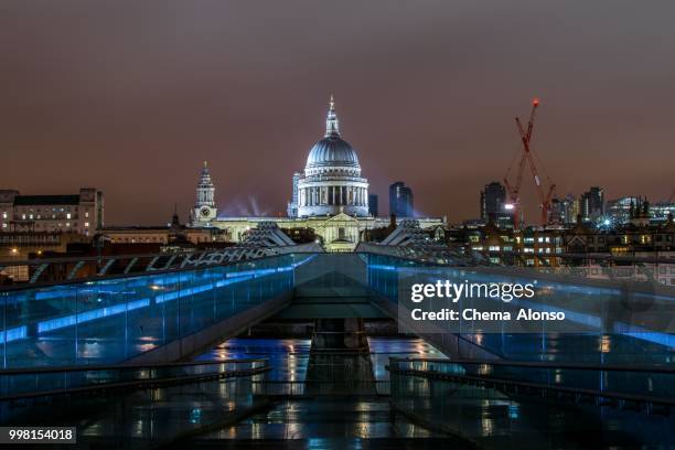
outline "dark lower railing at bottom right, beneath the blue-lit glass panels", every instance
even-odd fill
[[[394,376],[470,384],[507,395],[553,395],[647,414],[667,415],[675,406],[675,367],[392,357],[387,369]]]

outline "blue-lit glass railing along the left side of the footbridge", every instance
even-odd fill
[[[124,361],[290,291],[312,257],[0,291],[2,367]]]

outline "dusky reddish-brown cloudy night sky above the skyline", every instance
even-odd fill
[[[0,189],[106,195],[106,223],[183,221],[203,160],[219,214],[286,211],[330,94],[387,213],[479,215],[542,99],[558,193],[675,188],[675,2],[0,2]],[[527,178],[526,219],[537,201]]]

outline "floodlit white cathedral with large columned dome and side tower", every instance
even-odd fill
[[[275,222],[286,229],[311,228],[329,251],[351,251],[365,231],[389,225],[389,217],[368,214],[368,180],[361,174],[356,150],[341,137],[332,96],[323,139],[310,149],[304,170],[292,175],[287,211],[288,217],[218,217],[215,188],[204,163],[191,226],[222,228],[242,242],[258,223]],[[446,224],[444,218],[416,219],[422,228]]]

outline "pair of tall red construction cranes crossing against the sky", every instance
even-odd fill
[[[523,175],[525,174],[525,163],[529,165],[529,170],[534,178],[534,182],[537,189],[537,194],[539,196],[540,208],[542,208],[542,225],[546,226],[548,224],[548,215],[550,213],[550,202],[556,191],[556,185],[550,181],[548,176],[548,191],[545,191],[544,185],[542,183],[542,179],[539,178],[539,173],[537,171],[537,165],[535,163],[535,159],[533,157],[532,148],[529,142],[532,141],[532,131],[534,129],[534,120],[537,111],[537,107],[539,106],[539,99],[535,98],[532,100],[532,111],[529,113],[529,120],[527,121],[527,128],[523,127],[521,119],[518,117],[515,118],[516,126],[518,128],[518,133],[521,135],[521,142],[523,144],[523,152],[521,153],[521,160],[518,161],[518,172],[516,175],[515,184],[508,182],[508,175],[511,174],[510,165],[506,170],[506,174],[504,175],[504,184],[506,185],[506,191],[508,193],[508,200],[511,203],[506,205],[507,208],[513,210],[513,223],[514,228],[518,229],[521,225],[521,188],[523,185]],[[515,160],[514,160],[515,161]]]

